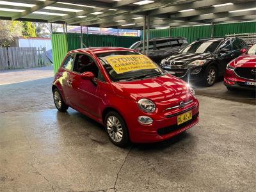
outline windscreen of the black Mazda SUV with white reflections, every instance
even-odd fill
[[[180,53],[212,53],[216,50],[221,40],[198,41],[189,44]]]

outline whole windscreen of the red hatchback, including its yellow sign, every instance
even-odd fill
[[[132,81],[163,74],[156,63],[135,51],[97,54],[112,81]]]

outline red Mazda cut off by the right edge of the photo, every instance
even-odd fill
[[[256,90],[256,44],[245,54],[228,63],[224,84],[230,91],[237,88]]]

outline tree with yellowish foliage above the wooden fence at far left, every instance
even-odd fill
[[[22,35],[22,23],[17,20],[0,20],[0,47],[10,47],[16,36]]]

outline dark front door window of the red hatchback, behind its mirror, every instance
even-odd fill
[[[97,79],[105,81],[102,72],[97,67],[95,61],[86,54],[77,54],[74,62],[74,71],[83,74],[84,72],[92,72]]]

